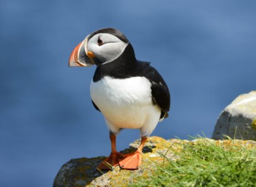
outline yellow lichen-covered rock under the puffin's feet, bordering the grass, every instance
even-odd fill
[[[140,140],[130,144],[130,148],[122,151],[129,153],[138,147]],[[199,138],[193,141],[170,139],[164,140],[160,137],[150,137],[144,146],[142,155],[142,165],[138,170],[122,170],[116,166],[112,171],[97,171],[96,167],[106,157],[99,156],[96,158],[76,158],[65,163],[56,175],[53,187],[64,186],[127,186],[134,184],[139,180],[139,176],[149,178],[154,175],[155,168],[162,166],[167,159],[179,160],[178,151],[182,150],[184,143],[197,145],[203,143],[209,145],[221,146],[242,146],[246,148],[255,147],[255,141],[243,140],[212,140],[209,138]]]

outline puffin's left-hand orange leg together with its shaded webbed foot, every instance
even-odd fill
[[[97,166],[99,170],[113,170],[115,166],[119,165],[119,157],[122,156],[122,154],[116,150],[116,135],[110,133],[109,138],[111,139],[111,155]]]

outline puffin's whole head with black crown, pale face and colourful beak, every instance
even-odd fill
[[[69,67],[101,65],[116,60],[129,45],[117,29],[107,28],[89,34],[78,44],[69,58]]]

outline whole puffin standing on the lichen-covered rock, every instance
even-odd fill
[[[69,67],[91,65],[96,65],[90,84],[92,105],[104,116],[111,140],[111,154],[97,169],[113,170],[119,165],[136,170],[147,138],[168,117],[167,84],[150,62],[136,59],[127,37],[114,28],[92,32],[72,50]],[[141,143],[133,153],[116,149],[116,136],[125,128],[140,130]]]

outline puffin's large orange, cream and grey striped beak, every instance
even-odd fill
[[[87,37],[78,44],[75,49],[72,51],[69,57],[69,67],[89,67],[94,65],[91,59],[87,56]]]

